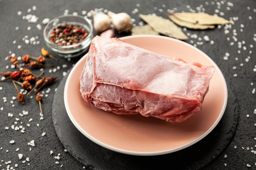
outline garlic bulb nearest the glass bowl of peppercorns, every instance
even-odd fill
[[[90,11],[93,16],[93,27],[98,32],[103,32],[110,28],[110,17],[104,13],[95,13]]]

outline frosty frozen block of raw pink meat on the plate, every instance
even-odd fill
[[[96,36],[80,76],[80,92],[102,110],[182,122],[201,110],[213,72],[213,66]]]

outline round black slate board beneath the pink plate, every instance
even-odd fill
[[[229,93],[225,113],[217,127],[201,141],[175,153],[132,156],[116,153],[83,136],[69,119],[64,106],[65,76],[55,93],[52,116],[55,131],[69,153],[90,170],[197,170],[216,158],[231,140],[237,126],[238,104]]]

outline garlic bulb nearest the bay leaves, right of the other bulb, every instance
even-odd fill
[[[113,26],[118,30],[118,32],[130,32],[132,24],[130,22],[130,16],[127,13],[118,13],[115,14],[111,11],[108,11],[108,16],[112,20]]]

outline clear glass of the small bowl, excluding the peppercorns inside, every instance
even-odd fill
[[[72,45],[57,45],[54,42],[51,42],[49,35],[53,31],[53,27],[64,23],[67,23],[69,25],[82,26],[88,33],[87,37],[82,42],[78,42]],[[64,15],[56,17],[51,20],[44,29],[44,39],[47,47],[57,52],[61,57],[65,58],[76,57],[84,53],[91,45],[92,38],[93,26],[91,24],[91,21],[88,18],[82,16]]]

